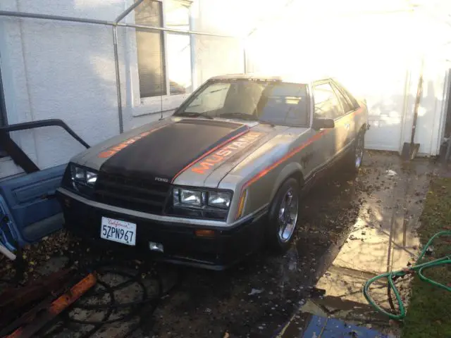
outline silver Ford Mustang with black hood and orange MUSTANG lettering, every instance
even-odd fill
[[[68,230],[163,261],[222,269],[283,252],[300,197],[339,159],[357,172],[368,113],[333,79],[225,75],[171,117],[75,156],[58,197]]]

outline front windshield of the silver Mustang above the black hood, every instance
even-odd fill
[[[264,80],[209,81],[175,115],[307,126],[307,85]]]

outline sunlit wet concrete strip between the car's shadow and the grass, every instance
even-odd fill
[[[414,263],[419,252],[416,228],[435,171],[433,163],[426,159],[402,163],[393,154],[367,153],[362,173],[353,183],[347,182],[359,186],[354,195],[354,199],[359,201],[357,219],[348,228],[348,237],[342,246],[332,249],[338,249],[336,255],[333,253],[335,259],[315,284],[315,287],[325,290],[325,296],[309,299],[299,309],[299,318],[305,318],[306,313],[340,318],[347,325],[359,325],[360,330],[377,330],[381,335],[376,337],[397,337],[400,334],[397,323],[376,313],[368,305],[362,286],[371,277]],[[406,304],[409,282],[407,277],[397,282]],[[384,308],[396,309],[396,305],[390,303],[386,283],[376,284],[371,295]],[[283,337],[303,337],[293,330],[298,326],[295,320],[296,317],[292,318],[286,325]],[[350,337],[375,337],[366,336],[365,332],[357,334],[354,326],[348,328]],[[347,336],[337,334],[336,337]]]

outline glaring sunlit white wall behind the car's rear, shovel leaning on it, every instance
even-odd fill
[[[425,13],[396,0],[294,1],[249,38],[247,67],[337,77],[366,98],[366,148],[401,151],[410,142],[419,61],[426,54],[415,142],[421,154],[436,155],[451,55],[443,45],[451,35],[445,19]]]

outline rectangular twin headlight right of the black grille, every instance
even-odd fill
[[[211,192],[194,189],[173,189],[173,206],[193,206],[197,208],[224,208],[230,206],[230,192]]]

